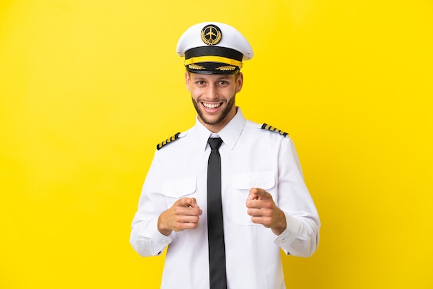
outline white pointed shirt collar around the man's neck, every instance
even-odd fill
[[[208,147],[208,138],[212,136],[212,134],[218,135],[229,149],[234,148],[237,140],[239,140],[239,136],[241,136],[241,132],[246,122],[241,108],[237,106],[236,109],[237,113],[234,115],[234,118],[232,118],[232,120],[230,120],[230,122],[218,133],[212,133],[212,131],[207,129],[203,124],[201,124],[201,122],[199,122],[199,118],[196,118],[195,131],[197,142],[199,147],[203,148],[203,151],[205,151],[206,147]]]

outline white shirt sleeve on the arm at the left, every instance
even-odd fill
[[[155,156],[142,187],[138,210],[132,221],[130,243],[142,257],[163,252],[172,239],[158,231],[158,217],[167,209],[165,198],[160,194],[162,178]]]

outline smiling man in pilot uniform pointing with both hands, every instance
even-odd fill
[[[186,30],[177,52],[196,124],[157,146],[131,245],[141,256],[168,246],[161,288],[285,288],[279,248],[311,256],[320,221],[291,138],[235,106],[250,44],[209,22]]]

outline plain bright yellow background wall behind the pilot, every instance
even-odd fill
[[[158,288],[130,224],[156,144],[194,124],[200,21],[255,50],[237,97],[287,131],[322,221],[288,288],[433,288],[430,0],[0,2],[0,288]]]

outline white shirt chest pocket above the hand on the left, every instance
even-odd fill
[[[162,194],[165,196],[167,207],[172,205],[180,198],[197,198],[196,178],[180,178],[170,180],[163,184]]]

